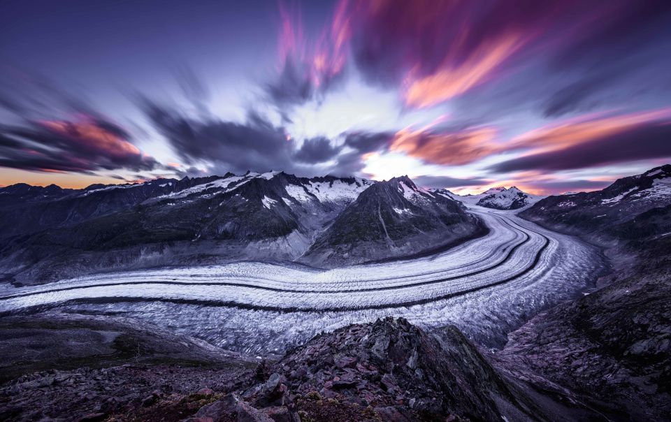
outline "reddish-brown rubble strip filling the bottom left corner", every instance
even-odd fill
[[[251,375],[230,365],[177,364],[36,372],[0,388],[0,420],[179,421],[244,388]]]

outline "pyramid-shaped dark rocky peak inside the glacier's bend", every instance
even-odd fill
[[[363,191],[301,260],[338,265],[409,256],[484,233],[461,203],[419,189],[407,176],[394,177]]]

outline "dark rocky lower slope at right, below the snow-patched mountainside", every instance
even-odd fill
[[[498,357],[561,384],[605,414],[671,416],[671,239],[619,265],[608,286],[535,316]],[[632,251],[626,244],[615,248]],[[614,251],[610,251],[614,254]]]

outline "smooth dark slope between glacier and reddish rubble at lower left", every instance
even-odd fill
[[[0,383],[52,369],[185,362],[249,368],[257,363],[249,356],[120,316],[43,312],[0,318]]]

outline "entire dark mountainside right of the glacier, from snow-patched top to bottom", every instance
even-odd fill
[[[501,356],[631,420],[671,414],[670,176],[662,166],[521,213],[603,245],[613,272],[601,280],[607,286],[510,334]]]

